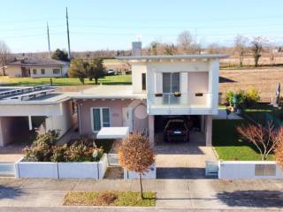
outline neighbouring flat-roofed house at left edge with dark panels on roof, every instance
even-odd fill
[[[70,96],[50,86],[0,87],[0,147],[30,140],[31,133],[63,136],[76,119]]]

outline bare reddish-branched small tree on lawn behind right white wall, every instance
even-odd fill
[[[238,126],[237,131],[256,146],[263,161],[267,159],[267,156],[274,150],[279,142],[280,134],[274,129],[271,122],[268,123],[266,128],[263,125],[251,124]],[[282,129],[280,129],[279,132],[280,131],[282,131]]]

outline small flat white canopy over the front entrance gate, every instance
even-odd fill
[[[126,139],[129,127],[103,127],[97,133],[97,139]]]

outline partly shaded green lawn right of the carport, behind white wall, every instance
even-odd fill
[[[261,160],[260,154],[252,143],[242,140],[236,126],[246,124],[245,120],[213,120],[212,144],[219,159],[231,161]],[[268,160],[273,160],[270,155]]]

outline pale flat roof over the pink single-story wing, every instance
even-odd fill
[[[73,99],[146,99],[147,95],[134,94],[132,86],[97,86],[72,95]]]

